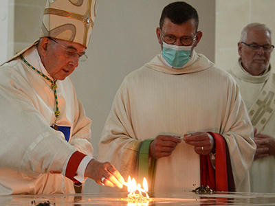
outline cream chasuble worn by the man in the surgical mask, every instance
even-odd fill
[[[201,54],[194,53],[183,69],[166,66],[159,54],[124,78],[102,132],[98,160],[113,163],[127,180],[135,175],[141,141],[197,131],[223,135],[236,190],[249,192],[255,144],[236,82]],[[193,146],[181,142],[172,155],[157,159],[155,192],[193,190],[193,184],[200,185],[199,165]]]

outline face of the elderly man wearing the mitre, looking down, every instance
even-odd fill
[[[55,41],[78,54],[85,52],[85,47],[78,43],[59,39],[55,39]],[[66,49],[58,45],[58,43],[50,40],[50,46],[47,47],[47,55],[45,55],[43,64],[52,78],[55,80],[65,80],[78,66],[79,56],[77,54],[74,57],[67,56]]]

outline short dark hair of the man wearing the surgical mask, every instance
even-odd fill
[[[175,24],[184,23],[190,19],[195,19],[196,30],[199,27],[199,15],[197,10],[184,1],[176,1],[166,5],[164,10],[162,10],[162,16],[160,16],[159,27],[162,29],[164,24],[164,19],[168,18]]]

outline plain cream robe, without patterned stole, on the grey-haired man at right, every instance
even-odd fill
[[[271,67],[269,67],[268,71],[262,76],[252,76],[242,69],[239,61],[230,70],[230,73],[239,84],[243,101],[248,110],[255,102],[267,80],[274,75]],[[274,124],[275,115],[273,113],[260,133],[275,137]],[[253,161],[250,168],[250,185],[251,192],[275,192],[275,157],[273,155]]]

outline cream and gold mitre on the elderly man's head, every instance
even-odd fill
[[[47,0],[40,37],[50,36],[87,47],[97,0]]]

